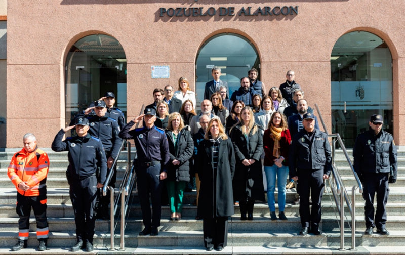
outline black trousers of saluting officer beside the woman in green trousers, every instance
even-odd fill
[[[145,167],[138,166],[137,186],[138,197],[141,204],[142,220],[145,228],[157,228],[161,218],[161,181],[160,164]],[[150,196],[149,196],[150,193]],[[149,197],[152,198],[152,211],[150,210]]]

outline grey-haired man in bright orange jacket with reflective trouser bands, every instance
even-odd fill
[[[47,220],[47,175],[49,158],[38,149],[32,133],[23,137],[24,148],[14,154],[7,175],[17,188],[18,242],[11,250],[27,247],[31,207],[36,219],[38,251],[47,249],[49,228]]]

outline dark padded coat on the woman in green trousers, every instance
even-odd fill
[[[169,160],[169,167],[168,167],[168,179],[169,181],[190,181],[190,165],[189,159],[192,157],[194,152],[194,142],[189,131],[189,127],[186,126],[183,128],[180,133],[179,137],[177,137],[177,153],[175,148],[175,143],[172,136],[171,130],[166,130],[166,137],[168,138],[169,144],[169,152],[170,152],[170,160]],[[173,165],[173,160],[179,160],[179,165]]]

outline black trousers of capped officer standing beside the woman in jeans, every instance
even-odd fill
[[[320,202],[322,201],[323,169],[299,169],[300,217],[302,227],[318,228],[320,222]],[[309,210],[309,198],[312,197],[312,208]]]

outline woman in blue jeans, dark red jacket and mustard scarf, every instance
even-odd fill
[[[288,153],[290,148],[290,131],[284,114],[275,112],[271,115],[268,129],[263,135],[264,172],[267,179],[267,201],[270,218],[277,220],[275,215],[275,180],[278,189],[278,217],[287,220],[284,214],[286,207],[286,183],[288,176]]]

